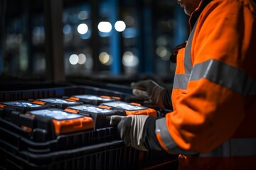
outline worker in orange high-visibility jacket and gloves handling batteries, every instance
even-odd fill
[[[134,96],[159,108],[172,103],[173,111],[163,118],[114,115],[111,124],[126,145],[177,154],[179,169],[256,169],[256,5],[178,4],[191,30],[171,55],[171,93],[155,81],[132,83]]]

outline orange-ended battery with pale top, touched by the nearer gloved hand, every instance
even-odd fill
[[[126,103],[123,101],[112,101],[101,103],[100,108],[113,109],[119,112],[119,115],[150,115],[156,117],[156,110],[141,106],[138,103]]]

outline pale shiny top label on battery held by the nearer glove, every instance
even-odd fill
[[[125,103],[122,101],[107,102],[107,103],[103,103],[103,105],[113,107],[113,108],[122,108],[125,111],[140,111],[140,110],[148,109],[144,106],[134,106],[130,103]]]

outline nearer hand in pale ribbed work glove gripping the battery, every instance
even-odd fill
[[[112,115],[110,125],[117,125],[119,135],[124,140],[125,145],[147,151],[143,144],[142,132],[148,117],[148,115]]]

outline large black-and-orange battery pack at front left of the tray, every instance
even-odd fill
[[[46,108],[16,114],[16,124],[31,137],[42,141],[55,139],[58,135],[70,132],[93,130],[93,120],[90,117],[70,113],[60,108]]]

